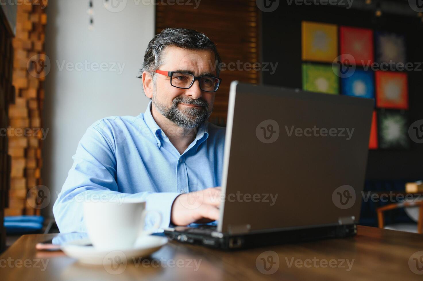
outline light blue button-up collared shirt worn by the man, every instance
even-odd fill
[[[86,232],[84,201],[124,198],[146,201],[147,210],[162,214],[160,227],[168,227],[176,196],[220,186],[224,142],[225,128],[205,122],[180,154],[154,121],[151,102],[138,116],[95,122],[82,136],[53,206],[60,232]]]

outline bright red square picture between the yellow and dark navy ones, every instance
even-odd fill
[[[373,30],[341,26],[339,41],[341,56],[352,55],[357,65],[370,65],[374,62]]]

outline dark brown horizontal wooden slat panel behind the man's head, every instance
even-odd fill
[[[255,0],[201,0],[198,8],[194,7],[195,4],[162,5],[158,1],[156,33],[167,27],[194,29],[214,41],[223,63],[259,61],[259,19]],[[216,93],[214,110],[209,121],[225,125],[231,81],[258,83],[259,74],[255,70],[226,69],[220,73],[220,78],[222,85]]]

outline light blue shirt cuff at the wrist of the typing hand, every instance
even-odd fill
[[[159,226],[160,229],[157,231],[162,231],[164,228],[168,228],[170,225],[170,213],[172,211],[172,205],[176,197],[181,195],[178,192],[156,192],[148,195],[146,199],[146,209],[148,211],[157,211],[162,215],[162,222]],[[146,227],[151,228],[154,226],[157,221],[157,215],[151,214],[147,216]]]

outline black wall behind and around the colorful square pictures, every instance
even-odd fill
[[[262,81],[268,85],[301,88],[301,21],[326,22],[375,31],[403,33],[407,38],[407,61],[423,62],[423,24],[416,18],[384,14],[375,20],[373,12],[329,6],[287,6],[261,14],[262,61],[278,62],[276,72],[262,71]],[[423,65],[418,71],[408,71],[409,121],[423,119]],[[370,150],[367,179],[423,178],[423,144],[410,140],[409,150]]]

